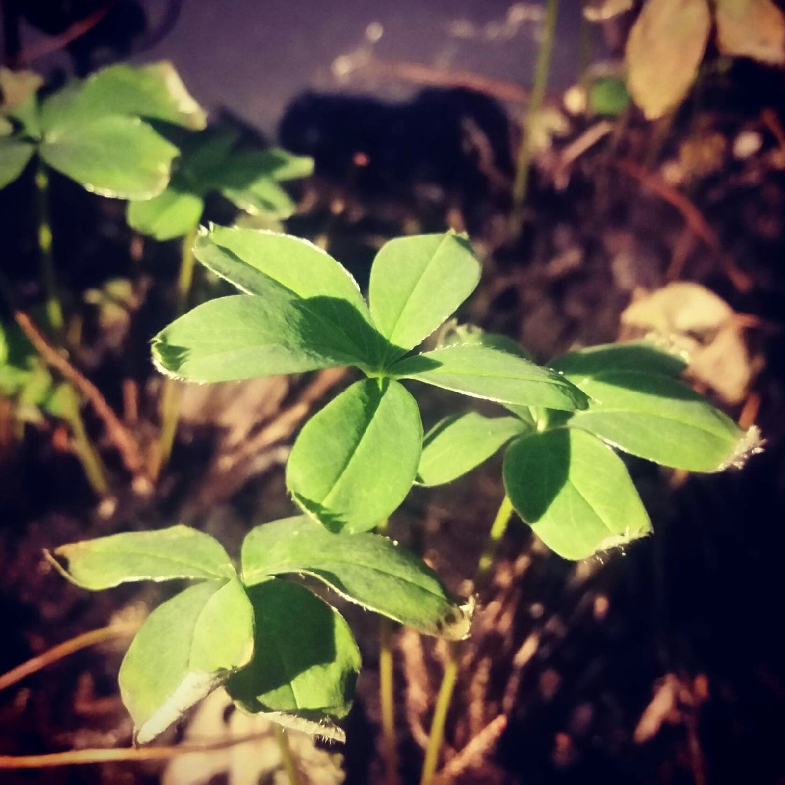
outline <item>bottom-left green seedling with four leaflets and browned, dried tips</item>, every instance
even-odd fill
[[[243,711],[344,738],[338,722],[352,705],[360,652],[341,614],[298,576],[426,635],[469,632],[469,609],[414,554],[380,535],[330,534],[305,516],[252,529],[239,572],[219,542],[185,526],[76,542],[46,556],[89,590],[193,582],[155,608],[122,661],[120,692],[139,743],[220,686]]]

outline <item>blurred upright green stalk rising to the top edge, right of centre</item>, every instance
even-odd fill
[[[559,0],[546,0],[545,9],[545,28],[542,31],[542,42],[537,53],[535,64],[535,81],[531,87],[531,98],[526,111],[524,120],[524,133],[518,146],[518,157],[515,171],[515,182],[513,184],[513,210],[509,216],[509,234],[513,240],[520,236],[523,226],[524,206],[529,187],[529,175],[531,173],[531,130],[534,127],[535,119],[542,109],[542,102],[545,100],[545,93],[548,87],[548,74],[550,72],[550,61],[553,55],[553,42],[556,38],[556,19],[559,10]]]

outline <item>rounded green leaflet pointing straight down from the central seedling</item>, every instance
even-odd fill
[[[287,464],[287,487],[331,531],[367,531],[406,498],[421,451],[414,398],[398,382],[366,379],[305,424]]]

